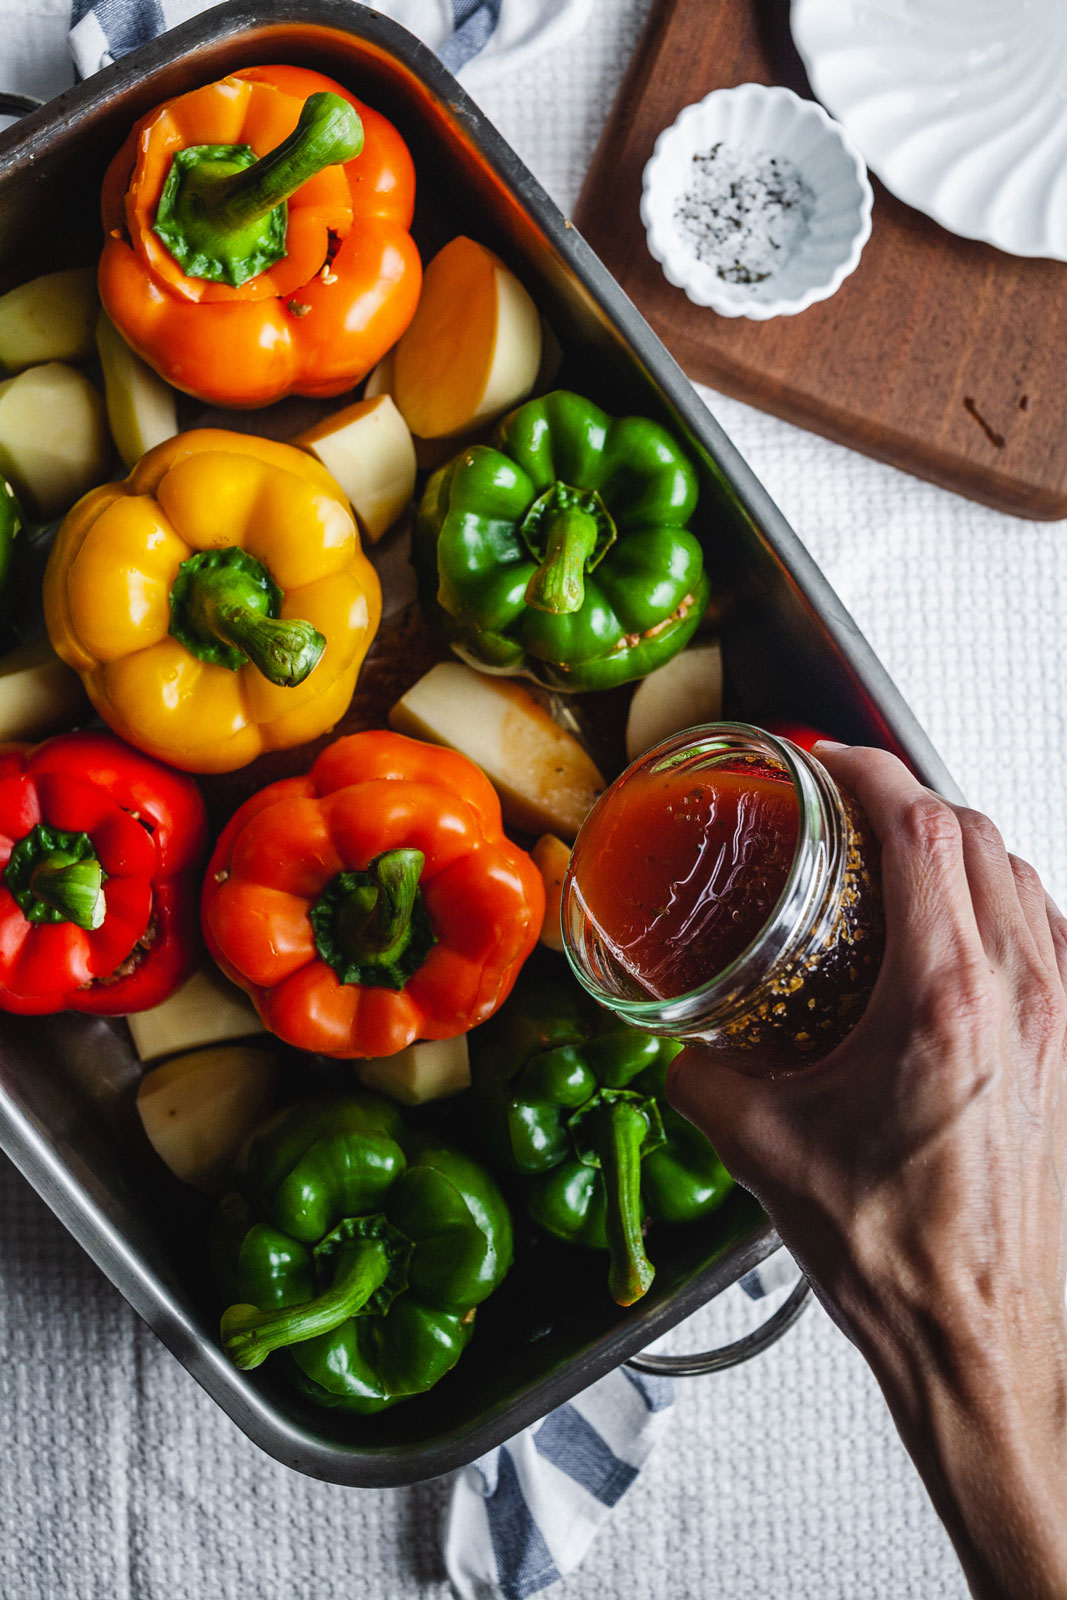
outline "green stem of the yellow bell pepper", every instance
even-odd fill
[[[264,592],[238,568],[198,570],[186,598],[194,632],[222,640],[282,688],[296,688],[318,666],[326,640],[294,618],[264,611]]]

